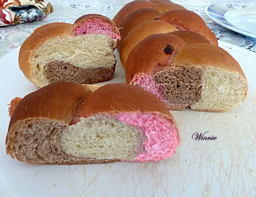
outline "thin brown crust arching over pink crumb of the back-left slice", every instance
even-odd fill
[[[110,26],[113,29],[113,32],[120,36],[120,32],[119,32],[116,24],[114,24],[114,22],[110,18],[108,18],[106,16],[102,16],[100,14],[86,14],[86,15],[81,16],[80,18],[76,19],[76,21],[74,22],[74,25],[72,26],[72,28],[70,30],[71,34],[75,35],[76,34],[76,32],[75,32],[76,28],[78,28],[82,24],[88,22],[88,20],[90,20],[91,18],[100,18],[102,21],[110,24]],[[119,41],[119,39],[116,40],[116,44],[118,44],[118,41]]]

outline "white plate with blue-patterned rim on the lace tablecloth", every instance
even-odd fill
[[[216,23],[234,32],[256,38],[256,3],[211,4],[206,14]]]

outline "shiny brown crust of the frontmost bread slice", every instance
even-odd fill
[[[102,98],[104,98],[103,102]],[[158,97],[140,87],[124,83],[95,86],[63,81],[52,83],[30,93],[19,102],[10,120],[6,136],[6,153],[12,158],[15,156],[17,160],[24,162],[18,158],[11,148],[15,143],[11,140],[11,136],[16,132],[12,127],[22,124],[22,120],[49,119],[63,123],[63,127],[65,127],[70,125],[75,116],[81,114],[84,117],[89,117],[102,113],[115,114],[118,112],[154,112],[162,114],[177,127],[164,103]],[[56,132],[56,130],[52,132]],[[68,157],[69,155],[64,153],[63,156]],[[43,164],[101,164],[117,161],[120,160],[83,158],[81,161],[46,162]]]

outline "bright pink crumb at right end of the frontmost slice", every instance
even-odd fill
[[[178,129],[173,121],[156,113],[123,112],[115,115],[117,120],[140,127],[148,140],[144,142],[146,153],[137,155],[134,162],[157,161],[170,158],[180,144]]]

